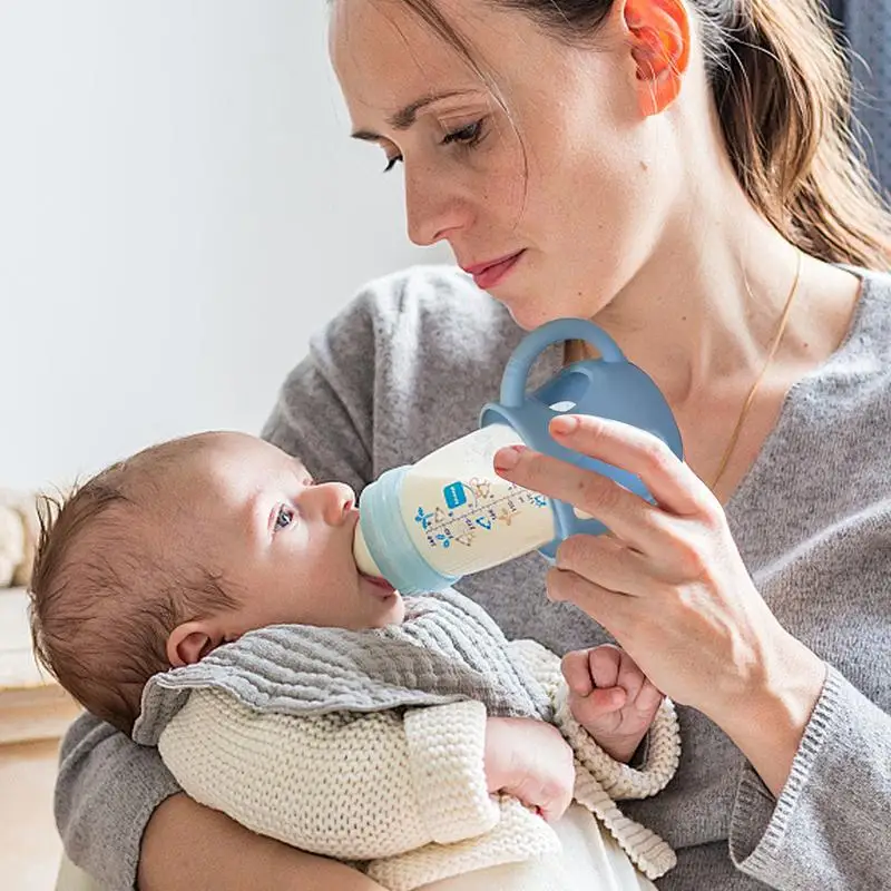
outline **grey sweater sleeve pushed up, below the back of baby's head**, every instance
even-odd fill
[[[139,845],[154,810],[182,790],[156,748],[88,713],[62,741],[56,823],[74,863],[107,891],[136,888]]]

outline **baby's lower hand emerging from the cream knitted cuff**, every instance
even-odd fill
[[[489,792],[513,795],[548,822],[562,816],[572,801],[572,750],[544,721],[490,717],[483,766]]]

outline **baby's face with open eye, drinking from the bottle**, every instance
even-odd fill
[[[356,568],[359,511],[349,486],[314,484],[298,461],[254,437],[215,433],[208,442],[177,493],[177,516],[185,512],[193,529],[184,533],[177,520],[168,531],[186,535],[180,544],[243,599],[214,618],[221,643],[265,625],[361,629],[402,621],[400,595]]]

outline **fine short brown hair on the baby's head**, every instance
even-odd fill
[[[157,502],[166,471],[200,442],[155,446],[67,499],[41,500],[30,586],[35,653],[81,705],[126,733],[149,677],[169,668],[170,631],[238,605],[194,555],[161,549],[146,535],[164,519]]]

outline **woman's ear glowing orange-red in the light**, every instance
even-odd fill
[[[684,0],[625,0],[624,16],[640,111],[658,115],[677,98],[689,65],[687,9]]]

